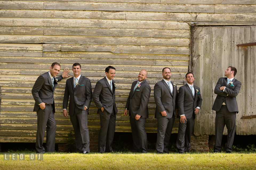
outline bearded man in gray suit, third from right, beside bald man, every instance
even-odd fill
[[[162,70],[163,80],[154,86],[155,118],[157,118],[157,153],[169,153],[171,131],[175,120],[175,113],[178,114],[176,103],[178,101],[177,86],[171,79],[171,69],[168,67]],[[177,107],[178,108],[178,107]]]

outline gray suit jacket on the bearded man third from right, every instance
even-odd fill
[[[173,85],[173,82],[171,84]],[[157,82],[154,86],[154,98],[157,106],[155,108],[155,118],[175,116],[176,103],[178,102],[177,86],[173,85],[173,93],[171,93],[168,84],[164,80]],[[166,111],[167,116],[162,116],[162,111]]]

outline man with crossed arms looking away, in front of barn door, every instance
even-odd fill
[[[241,82],[234,76],[237,74],[235,67],[228,67],[225,71],[226,77],[219,78],[214,93],[217,97],[212,110],[216,111],[215,117],[215,144],[214,152],[221,152],[221,141],[224,127],[227,127],[227,146],[225,151],[230,153],[235,136],[235,118],[238,113],[237,95],[241,88]]]

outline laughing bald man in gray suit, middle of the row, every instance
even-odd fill
[[[145,123],[149,117],[147,104],[151,92],[150,85],[146,81],[147,71],[141,70],[138,80],[131,85],[131,91],[126,102],[124,115],[129,110],[131,132],[133,135],[133,151],[147,153],[147,133]]]

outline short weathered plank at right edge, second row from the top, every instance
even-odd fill
[[[256,5],[215,5],[214,13],[255,13]]]

